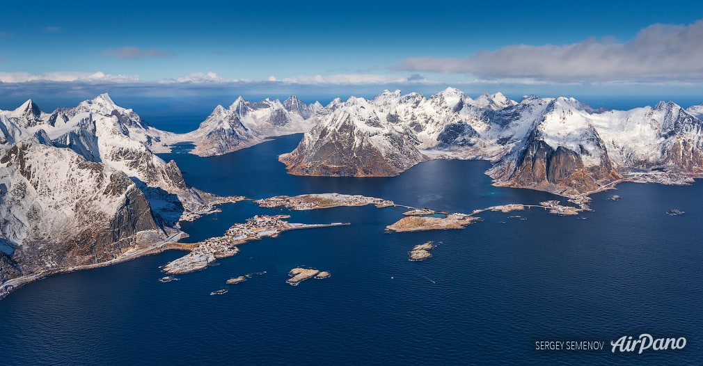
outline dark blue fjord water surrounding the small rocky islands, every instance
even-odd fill
[[[558,199],[496,188],[486,162],[435,160],[392,178],[299,177],[276,155],[298,136],[221,157],[176,159],[186,181],[220,195],[341,192],[470,212]],[[683,365],[703,360],[703,185],[626,183],[593,195],[581,220],[541,209],[482,214],[464,230],[384,233],[404,209],[314,211],[228,204],[183,229],[221,235],[254,214],[351,226],[293,230],[240,247],[178,281],[158,282],[169,251],[57,275],[0,301],[0,364],[500,364]],[[612,194],[621,200],[607,200]],[[666,211],[678,208],[681,216]],[[508,218],[521,215],[527,220]],[[501,223],[503,221],[504,223]],[[432,258],[408,250],[439,243]],[[297,287],[288,270],[329,270]],[[209,293],[230,277],[266,271]],[[683,350],[612,353],[610,341],[685,337]],[[604,341],[602,351],[538,351],[536,341]]]

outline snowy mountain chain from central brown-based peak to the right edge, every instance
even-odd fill
[[[280,156],[292,174],[394,175],[425,157],[487,159],[496,184],[562,195],[590,192],[633,169],[703,174],[699,106],[603,111],[573,98],[525,96],[517,103],[501,93],[472,99],[449,88],[430,98],[384,91],[372,100],[335,99],[325,109],[330,114]],[[388,169],[378,156],[406,159]]]

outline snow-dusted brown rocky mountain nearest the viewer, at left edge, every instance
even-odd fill
[[[0,259],[4,279],[108,261],[163,235],[120,171],[31,140],[0,155],[0,236],[15,247]]]

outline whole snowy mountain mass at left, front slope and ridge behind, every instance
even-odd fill
[[[32,100],[0,111],[0,241],[14,248],[0,254],[0,278],[119,258],[209,208],[154,154],[172,136],[107,94],[51,113]]]

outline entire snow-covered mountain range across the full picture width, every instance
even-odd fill
[[[383,91],[321,105],[295,96],[218,105],[188,133],[162,131],[108,94],[44,112],[0,110],[0,281],[120,259],[212,209],[158,153],[222,155],[304,133],[291,174],[394,176],[428,159],[485,159],[494,184],[588,195],[624,179],[703,172],[703,105],[593,110],[573,98]],[[2,296],[2,294],[0,294]]]

